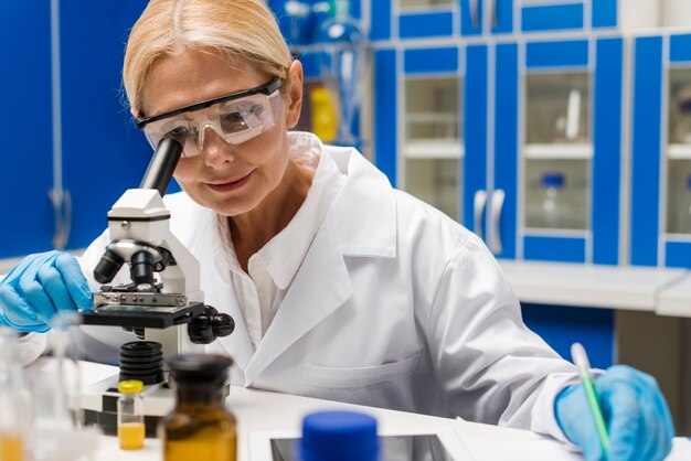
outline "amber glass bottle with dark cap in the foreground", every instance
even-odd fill
[[[161,421],[164,461],[235,461],[237,425],[225,409],[223,387],[233,361],[187,354],[168,361],[176,408]]]

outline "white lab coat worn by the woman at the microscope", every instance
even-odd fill
[[[482,242],[393,190],[354,149],[323,154],[346,184],[256,352],[217,256],[225,243],[214,213],[184,193],[166,197],[172,232],[201,262],[205,302],[236,321],[208,346],[234,358],[233,383],[562,438],[553,399],[574,369],[524,326]],[[102,235],[81,259],[87,276],[107,242]],[[118,329],[88,332],[92,358],[106,362],[132,340]]]

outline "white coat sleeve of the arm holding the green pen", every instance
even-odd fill
[[[577,383],[575,368],[524,325],[515,296],[477,236],[465,238],[448,262],[428,328],[432,360],[454,414],[565,440],[553,403]]]

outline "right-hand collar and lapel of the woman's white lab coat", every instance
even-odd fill
[[[352,297],[347,256],[395,257],[395,200],[386,178],[354,149],[328,148],[348,179],[245,371],[245,385]]]

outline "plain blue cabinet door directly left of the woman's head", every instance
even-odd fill
[[[132,122],[121,87],[127,33],[147,1],[62,3],[64,186],[72,199],[68,248],[88,245],[106,214],[137,187],[151,149]]]

